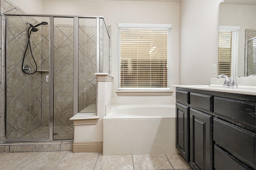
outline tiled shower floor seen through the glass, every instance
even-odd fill
[[[54,140],[73,139],[73,125],[53,126]],[[19,139],[44,139],[49,137],[49,126],[40,126]]]

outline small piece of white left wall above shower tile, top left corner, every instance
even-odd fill
[[[27,14],[42,14],[43,0],[10,0]]]

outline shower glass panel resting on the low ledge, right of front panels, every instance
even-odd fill
[[[79,18],[78,112],[96,113],[96,18]]]

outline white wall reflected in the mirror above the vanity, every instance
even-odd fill
[[[245,29],[256,28],[256,6],[220,4],[220,25],[240,26],[238,76],[244,76]]]

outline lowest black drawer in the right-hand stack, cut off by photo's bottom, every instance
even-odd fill
[[[232,156],[214,145],[214,169],[216,170],[250,170]]]

